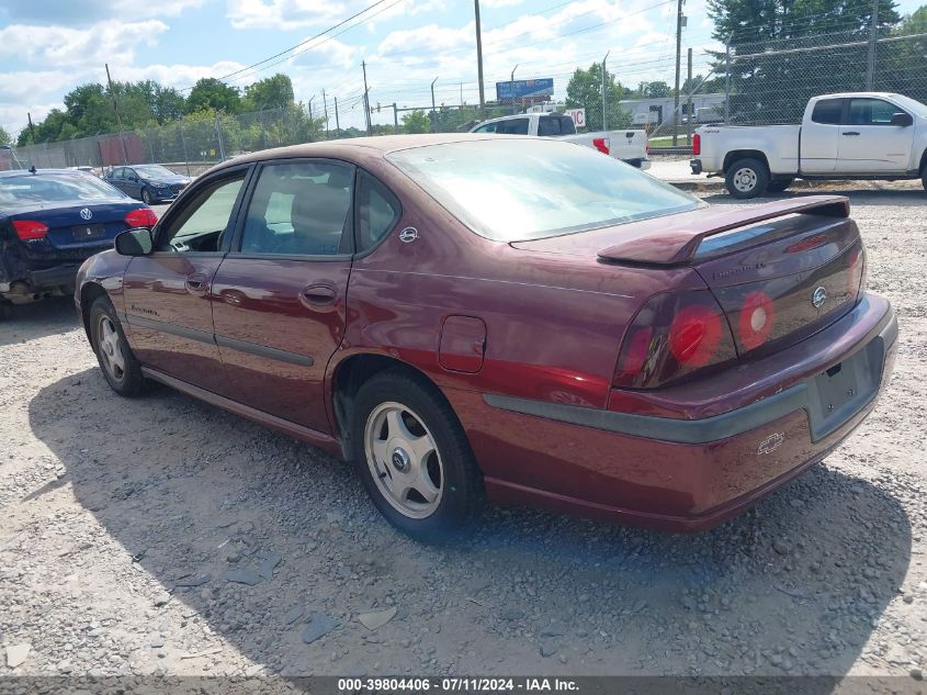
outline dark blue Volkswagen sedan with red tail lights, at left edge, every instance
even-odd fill
[[[0,171],[0,310],[74,293],[84,259],[156,222],[148,205],[89,173]]]

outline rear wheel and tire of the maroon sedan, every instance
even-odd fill
[[[483,475],[441,392],[391,369],[361,386],[353,413],[354,464],[381,514],[428,543],[465,533],[483,506]]]

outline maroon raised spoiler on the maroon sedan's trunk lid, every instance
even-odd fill
[[[757,222],[791,214],[849,217],[850,201],[844,195],[806,195],[745,210],[715,205],[667,217],[654,217],[623,225],[628,238],[598,251],[604,260],[679,266],[692,260],[703,239]]]

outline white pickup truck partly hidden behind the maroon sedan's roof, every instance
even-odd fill
[[[644,131],[598,131],[577,133],[573,119],[561,113],[520,113],[484,121],[471,133],[500,133],[504,135],[538,135],[557,137],[577,145],[595,147],[601,153],[621,159],[638,169],[649,169],[647,134]]]

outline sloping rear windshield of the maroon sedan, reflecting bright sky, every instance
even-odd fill
[[[483,139],[387,155],[471,229],[542,239],[682,212],[702,203],[595,149],[549,139]]]

